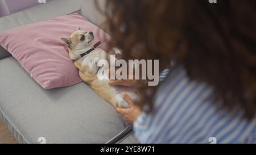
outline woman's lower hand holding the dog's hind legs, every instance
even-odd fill
[[[117,108],[116,111],[118,114],[121,114],[123,119],[125,119],[127,122],[133,123],[138,118],[138,116],[141,115],[141,109],[135,106],[129,95],[125,94],[123,95],[123,98],[129,104],[130,108]]]

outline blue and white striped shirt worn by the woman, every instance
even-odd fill
[[[176,66],[156,93],[152,113],[142,112],[134,122],[134,132],[141,143],[256,143],[256,119],[248,122],[240,108],[226,110],[212,87],[191,81]]]

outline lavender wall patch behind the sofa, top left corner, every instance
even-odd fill
[[[38,4],[38,0],[0,0],[0,16],[12,14]]]

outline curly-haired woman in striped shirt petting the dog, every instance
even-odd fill
[[[117,108],[141,143],[256,143],[256,1],[108,0],[106,10],[125,60],[170,69]]]

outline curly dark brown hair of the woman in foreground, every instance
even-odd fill
[[[256,1],[108,0],[104,14],[110,47],[123,58],[158,59],[160,70],[175,60],[188,76],[214,87],[229,110],[251,119],[256,111]],[[144,86],[149,105],[155,87]]]

